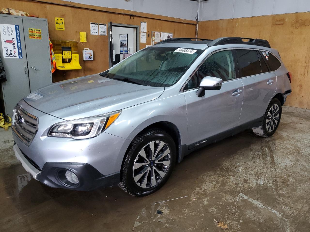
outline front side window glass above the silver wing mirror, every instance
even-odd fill
[[[222,79],[223,81],[236,78],[235,64],[231,50],[224,50],[212,54],[199,67],[198,71],[188,81],[184,90],[197,88],[206,76],[212,76]]]

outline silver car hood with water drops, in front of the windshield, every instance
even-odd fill
[[[58,82],[24,97],[29,105],[64,120],[100,115],[158,98],[165,88],[131,84],[99,74]]]

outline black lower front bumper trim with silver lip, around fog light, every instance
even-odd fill
[[[49,187],[89,191],[98,187],[115,185],[120,181],[120,172],[103,175],[93,166],[86,163],[47,162],[43,165],[42,170],[38,170],[35,167],[36,164],[33,163],[34,161],[26,157],[18,148],[17,144],[13,146],[13,150],[24,169],[28,171],[34,179]],[[63,181],[66,170],[70,170],[78,176],[78,184],[71,184]]]

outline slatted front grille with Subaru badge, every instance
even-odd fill
[[[30,144],[38,129],[38,119],[17,105],[13,111],[12,129],[27,145]]]

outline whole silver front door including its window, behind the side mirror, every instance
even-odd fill
[[[237,78],[236,67],[232,50],[218,51],[206,59],[185,85],[190,148],[197,142],[238,126],[243,85]],[[206,90],[205,96],[197,97],[197,88],[205,76],[223,79],[222,88]]]

